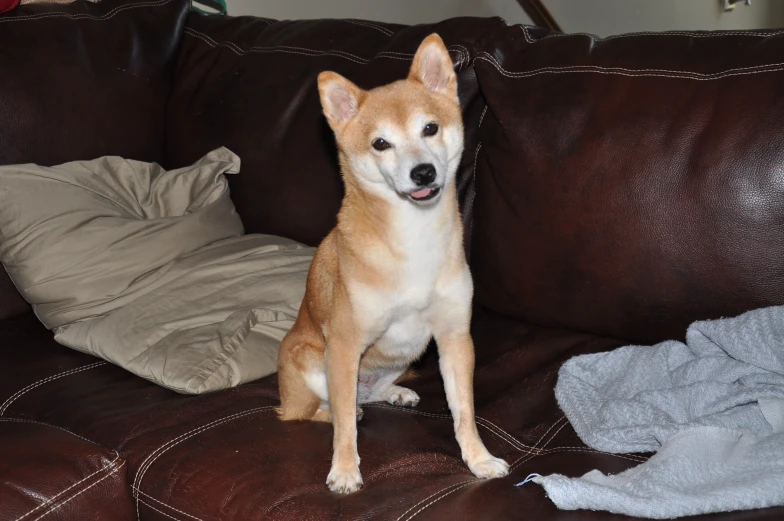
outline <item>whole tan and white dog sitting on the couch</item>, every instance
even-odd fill
[[[474,419],[473,282],[455,186],[463,123],[449,53],[433,34],[404,80],[364,91],[323,72],[318,88],[346,191],[280,346],[280,418],[332,421],[327,485],[358,490],[358,404],[416,406],[396,382],[435,337],[463,460],[480,478],[504,476]]]

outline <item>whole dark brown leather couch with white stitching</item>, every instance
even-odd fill
[[[477,421],[511,475],[479,481],[460,460],[432,349],[412,384],[419,408],[365,409],[365,488],[339,496],[324,484],[330,426],[279,422],[274,375],[177,395],[57,345],[3,272],[0,519],[621,519],[561,512],[513,484],[647,457],[580,442],[553,396],[565,360],[784,303],[784,35],[598,39],[500,19],[188,10],[104,0],[0,16],[0,163],[114,154],[179,167],[225,145],[242,158],[231,189],[247,231],[317,244],[342,188],[316,75],[401,78],[438,32],[466,126]]]

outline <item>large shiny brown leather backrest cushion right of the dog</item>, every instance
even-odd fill
[[[784,304],[784,34],[516,26],[476,71],[479,303],[640,342]]]

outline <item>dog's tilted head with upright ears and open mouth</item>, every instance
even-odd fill
[[[385,199],[435,204],[463,152],[457,78],[441,38],[427,37],[408,78],[364,91],[334,72],[318,78],[345,175]]]

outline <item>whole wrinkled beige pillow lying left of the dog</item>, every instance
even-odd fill
[[[186,393],[270,374],[314,249],[243,236],[225,148],[193,166],[0,167],[0,260],[55,339]]]

